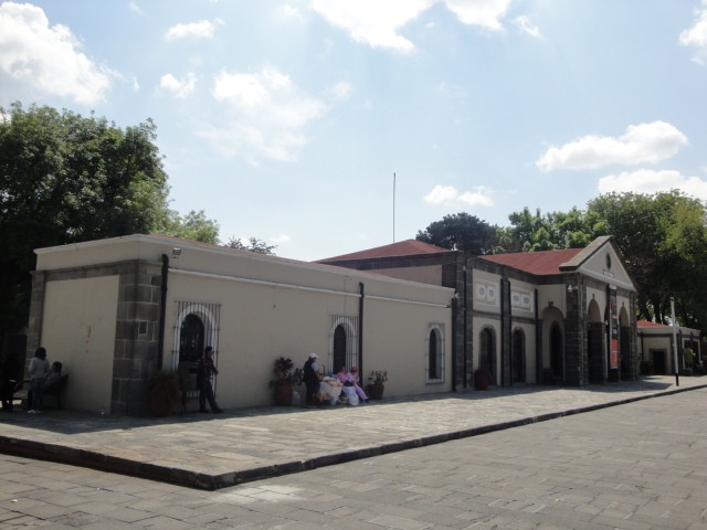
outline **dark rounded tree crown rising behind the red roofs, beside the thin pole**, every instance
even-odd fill
[[[419,231],[415,239],[443,248],[454,248],[477,256],[490,254],[497,245],[496,226],[476,215],[462,212],[445,215]]]

